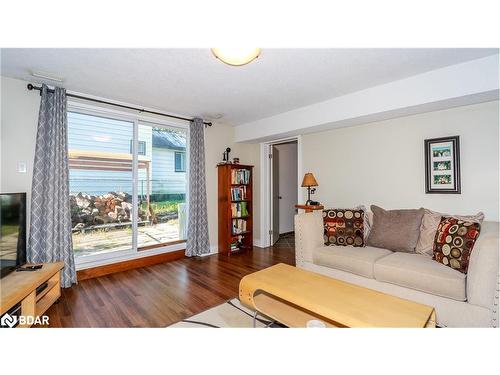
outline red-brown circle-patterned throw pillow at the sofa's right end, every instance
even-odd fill
[[[470,254],[480,231],[479,223],[443,216],[434,238],[432,259],[467,274]]]

